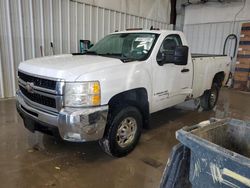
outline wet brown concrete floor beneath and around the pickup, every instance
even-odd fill
[[[0,101],[0,187],[159,187],[175,131],[210,117],[250,120],[250,95],[223,89],[212,112],[171,108],[152,115],[127,157],[107,156],[95,142],[66,143],[23,126],[14,100]]]

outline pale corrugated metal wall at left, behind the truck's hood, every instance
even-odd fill
[[[73,0],[0,1],[0,98],[13,97],[19,62],[54,53],[78,52],[79,40],[96,42],[130,27],[161,29],[167,23]]]

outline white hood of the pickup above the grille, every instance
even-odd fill
[[[56,55],[20,63],[19,70],[38,76],[75,81],[79,76],[123,64],[121,60],[95,55]]]

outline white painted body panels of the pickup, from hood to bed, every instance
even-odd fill
[[[66,82],[99,81],[101,105],[108,104],[113,96],[124,91],[145,88],[150,113],[184,102],[187,97],[201,96],[205,90],[211,88],[212,80],[218,72],[224,72],[227,78],[230,59],[226,56],[192,58],[189,52],[185,66],[173,63],[158,65],[156,55],[166,36],[177,34],[182,44],[188,46],[182,32],[140,30],[117,33],[143,32],[159,34],[150,56],[145,61],[123,63],[119,59],[103,56],[66,54],[24,61],[19,70]],[[182,69],[189,69],[189,72],[182,73]]]

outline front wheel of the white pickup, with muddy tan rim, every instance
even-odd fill
[[[111,114],[101,148],[109,155],[123,157],[137,145],[142,130],[142,115],[135,107],[128,106]]]

